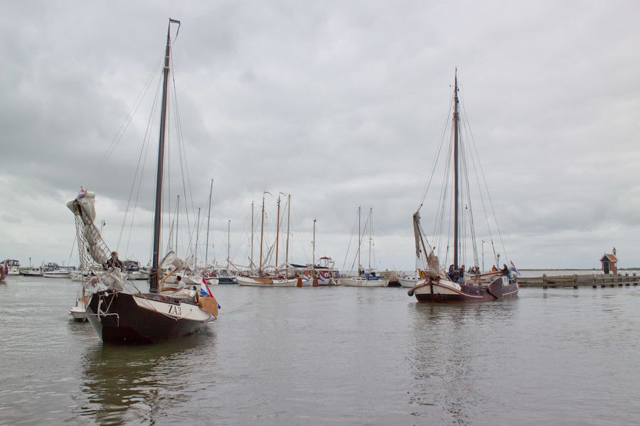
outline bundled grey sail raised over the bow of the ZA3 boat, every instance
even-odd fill
[[[78,197],[67,203],[67,207],[73,214],[82,218],[82,236],[86,241],[87,252],[96,263],[104,264],[109,258],[110,250],[93,223],[95,220],[95,193],[82,188]]]

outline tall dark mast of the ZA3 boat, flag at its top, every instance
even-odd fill
[[[149,292],[158,292],[158,275],[160,265],[160,237],[162,231],[162,178],[164,176],[164,141],[166,131],[166,101],[169,92],[169,63],[171,62],[171,23],[180,21],[169,19],[166,30],[166,49],[164,53],[164,70],[162,71],[162,109],[160,113],[160,138],[158,143],[158,168],[156,173],[156,205],[154,211],[154,249],[152,251],[151,273],[149,274]]]

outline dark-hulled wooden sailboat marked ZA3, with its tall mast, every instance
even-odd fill
[[[200,332],[218,315],[218,302],[213,295],[200,296],[197,291],[188,289],[179,296],[178,293],[174,296],[167,292],[159,292],[161,200],[172,23],[177,23],[179,27],[180,22],[170,19],[166,36],[149,293],[127,293],[124,291],[122,273],[117,268],[105,271],[102,281],[108,285],[107,290],[94,293],[87,305],[87,318],[105,344],[144,344],[175,339]],[[88,243],[87,251],[97,263],[104,264],[109,250],[93,224],[95,210],[92,199],[92,194],[81,192],[76,200],[68,203],[68,207],[82,218],[85,226],[83,235]]]

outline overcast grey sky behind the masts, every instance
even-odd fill
[[[310,260],[315,217],[317,255],[351,266],[362,206],[363,216],[374,209],[375,266],[411,269],[411,215],[458,67],[508,257],[590,268],[615,246],[620,266],[639,266],[638,16],[634,1],[4,1],[0,257],[77,263],[65,202],[85,185],[107,244],[149,260],[152,73],[171,17],[182,22],[174,78],[190,210],[206,216],[215,180],[209,258],[225,259],[231,219],[232,254],[246,263],[250,203],[268,190],[269,241],[275,197],[292,194],[292,261]],[[141,152],[129,238],[121,228]],[[179,163],[170,170],[174,208],[185,191]],[[425,229],[437,199],[430,190]],[[180,221],[185,251],[186,212]]]

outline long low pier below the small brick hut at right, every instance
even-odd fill
[[[543,274],[541,277],[518,278],[518,283],[522,288],[538,287],[538,288],[606,288],[606,287],[623,287],[627,285],[638,285],[640,277],[636,274],[616,274],[616,275],[555,275],[548,276]]]

